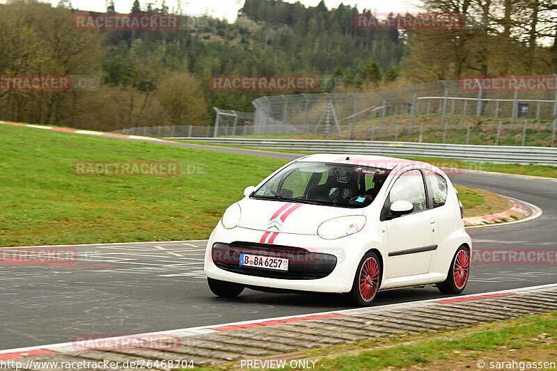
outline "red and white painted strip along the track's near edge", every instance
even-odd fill
[[[397,310],[397,309],[409,309],[416,306],[423,306],[424,304],[428,303],[455,303],[455,302],[462,302],[462,301],[472,301],[472,300],[481,300],[481,299],[491,299],[496,297],[508,297],[517,294],[524,294],[530,292],[536,292],[539,290],[544,290],[549,287],[557,287],[557,283],[552,283],[549,285],[539,285],[539,286],[531,286],[531,287],[521,287],[512,290],[501,290],[495,292],[483,292],[479,294],[470,294],[470,295],[462,295],[460,297],[451,297],[449,299],[427,299],[421,301],[411,301],[407,303],[395,303],[395,304],[387,304],[384,306],[375,306],[370,308],[355,308],[355,309],[346,309],[346,310],[334,310],[329,312],[322,312],[322,313],[313,313],[308,315],[292,315],[286,317],[274,317],[274,318],[267,318],[267,319],[256,319],[253,321],[242,321],[242,322],[231,322],[228,324],[219,324],[219,325],[212,325],[212,326],[198,326],[198,327],[191,327],[187,329],[177,329],[171,331],[158,331],[152,333],[139,333],[134,335],[127,335],[127,336],[118,336],[106,339],[96,339],[96,340],[121,340],[121,339],[136,339],[138,342],[141,342],[142,339],[148,338],[150,336],[178,336],[180,338],[187,338],[189,336],[196,336],[202,335],[207,333],[220,333],[222,331],[234,331],[240,329],[250,329],[253,327],[262,327],[262,326],[274,326],[277,324],[286,324],[291,322],[301,322],[301,321],[309,321],[311,319],[324,319],[330,317],[343,317],[345,315],[356,315],[356,314],[366,314],[366,313],[373,313],[377,310]],[[65,353],[65,352],[72,352],[80,350],[79,347],[72,342],[64,342],[59,344],[51,344],[51,345],[41,345],[38,347],[26,347],[26,348],[17,348],[17,349],[6,349],[0,351],[0,359],[15,359],[15,358],[24,358],[26,356],[38,356],[43,354],[58,354],[58,353]]]

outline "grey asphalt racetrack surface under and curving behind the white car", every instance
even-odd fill
[[[293,159],[299,155],[176,144]],[[473,248],[557,251],[557,182],[463,172],[455,184],[494,191],[537,205],[542,216],[505,226],[469,228]],[[242,195],[238,195],[241,198]],[[350,308],[328,294],[268,294],[245,290],[214,297],[203,275],[205,241],[63,246],[71,264],[0,264],[0,349],[71,342],[74,336],[117,336],[301,315]],[[14,248],[3,248],[2,251]],[[18,249],[19,250],[19,249]],[[21,248],[24,250],[24,248]],[[538,255],[539,256],[539,255]],[[473,264],[463,294],[557,282],[555,264]],[[379,292],[375,306],[443,297],[435,287]]]

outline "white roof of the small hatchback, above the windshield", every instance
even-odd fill
[[[334,162],[338,164],[352,164],[361,166],[372,166],[376,168],[386,168],[392,170],[398,165],[408,166],[408,165],[418,165],[422,168],[432,168],[434,166],[427,164],[423,161],[414,161],[409,159],[399,159],[397,157],[386,157],[386,156],[375,156],[375,155],[357,155],[350,153],[317,153],[315,155],[308,155],[302,157],[297,161],[304,162]],[[425,165],[425,166],[424,166]]]

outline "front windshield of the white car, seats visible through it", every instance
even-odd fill
[[[353,164],[295,162],[257,189],[252,198],[337,207],[366,207],[389,170]]]

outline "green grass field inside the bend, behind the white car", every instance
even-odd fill
[[[0,246],[206,239],[285,161],[0,125]],[[78,176],[76,161],[178,161],[178,177]],[[466,216],[492,198],[460,189]],[[501,199],[501,210],[505,200]],[[471,213],[471,214],[470,214]],[[476,214],[475,214],[476,213]]]

